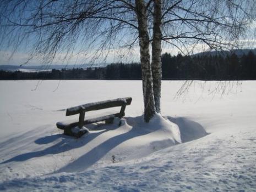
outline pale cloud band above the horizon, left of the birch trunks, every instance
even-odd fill
[[[43,55],[34,55],[32,59],[28,53],[11,51],[0,51],[0,65],[28,65],[45,64]],[[28,61],[29,60],[29,61]],[[79,53],[57,53],[52,64],[90,64],[90,63],[112,63],[112,62],[135,62],[139,61],[139,49],[110,49],[101,52],[79,52]]]

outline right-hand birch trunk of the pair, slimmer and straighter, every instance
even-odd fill
[[[161,0],[154,0],[154,26],[152,40],[152,78],[154,88],[154,99],[156,112],[161,112],[161,80],[162,80],[162,61],[161,61]]]

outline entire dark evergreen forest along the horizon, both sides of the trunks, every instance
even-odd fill
[[[39,72],[0,71],[0,80],[140,80],[139,63]],[[256,55],[162,55],[163,80],[256,80]]]

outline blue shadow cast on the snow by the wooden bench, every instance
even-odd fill
[[[104,125],[104,123],[90,125],[89,126],[90,129],[102,130],[102,131],[85,134],[79,139],[76,139],[74,137],[70,137],[70,136],[64,135],[64,134],[47,135],[45,137],[36,139],[35,143],[39,144],[39,145],[52,143],[59,138],[61,138],[62,140],[60,142],[56,143],[55,145],[52,145],[46,149],[17,155],[17,156],[14,156],[14,157],[6,160],[6,161],[1,162],[0,164],[12,162],[12,161],[17,161],[17,162],[18,161],[26,161],[26,160],[32,159],[34,157],[41,157],[41,156],[45,156],[45,155],[55,155],[55,154],[63,153],[65,151],[69,151],[69,150],[72,150],[75,148],[80,148],[81,146],[86,145],[87,143],[89,143],[91,140],[95,139],[99,135],[101,135],[109,130],[118,128],[118,125],[106,125],[105,129],[103,129],[102,128],[102,127],[104,127],[103,125]]]

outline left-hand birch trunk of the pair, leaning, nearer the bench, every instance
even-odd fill
[[[144,1],[136,0],[135,5],[139,27],[140,64],[144,97],[144,120],[149,122],[150,118],[154,116],[156,108],[149,54],[148,18]]]

